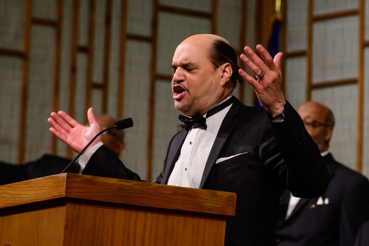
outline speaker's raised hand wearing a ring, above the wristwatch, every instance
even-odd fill
[[[250,47],[245,47],[245,54],[240,56],[256,79],[248,75],[243,69],[239,74],[254,88],[257,98],[265,109],[272,115],[279,115],[282,105],[286,103],[282,92],[282,75],[280,72],[280,60],[282,53],[279,52],[274,59],[260,44],[256,46],[263,60],[261,60]]]

